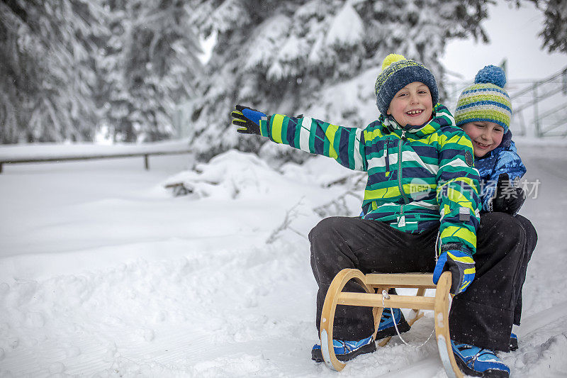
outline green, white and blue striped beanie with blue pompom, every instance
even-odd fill
[[[504,86],[506,74],[500,67],[489,65],[478,71],[473,85],[459,96],[455,109],[456,126],[474,121],[498,123],[507,133],[512,118],[512,103]]]

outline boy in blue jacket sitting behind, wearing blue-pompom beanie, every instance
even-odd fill
[[[504,219],[507,233],[521,234],[523,257],[520,277],[515,282],[515,306],[513,323],[520,326],[522,315],[522,286],[526,269],[537,243],[537,232],[532,223],[517,212],[526,198],[524,190],[517,186],[526,167],[517,154],[509,129],[512,104],[504,86],[505,72],[489,65],[476,74],[475,82],[466,87],[459,96],[455,110],[456,126],[463,128],[473,142],[475,167],[481,177],[481,226],[495,219]],[[511,228],[511,229],[510,229]],[[506,236],[505,236],[506,237]],[[514,299],[514,298],[512,298]],[[517,337],[512,333],[510,349],[517,349]],[[458,346],[456,348],[459,350]],[[456,352],[461,359],[471,350]]]

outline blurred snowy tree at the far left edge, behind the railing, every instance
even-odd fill
[[[91,138],[99,11],[86,0],[0,2],[1,143]]]

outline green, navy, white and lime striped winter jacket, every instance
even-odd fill
[[[416,129],[401,128],[389,116],[363,130],[281,114],[260,121],[260,129],[276,143],[368,172],[365,219],[410,233],[439,227],[439,250],[473,254],[480,200],[472,143],[445,106],[437,104],[433,112]]]

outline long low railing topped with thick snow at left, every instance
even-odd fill
[[[192,151],[183,142],[156,143],[154,145],[15,145],[0,148],[0,173],[4,164],[116,159],[120,157],[144,157],[144,167],[150,169],[150,155],[190,153]]]

